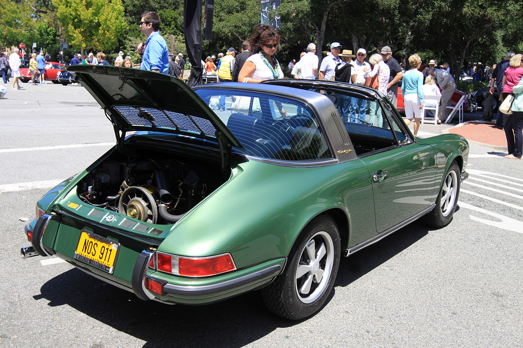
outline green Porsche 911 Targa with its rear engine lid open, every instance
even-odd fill
[[[342,256],[417,219],[447,225],[468,176],[467,140],[414,137],[367,87],[193,90],[150,71],[67,69],[107,113],[116,145],[37,202],[21,254],[59,257],[144,300],[201,305],[261,289],[277,315],[309,317]],[[377,102],[383,126],[342,121],[333,102],[343,95]],[[216,98],[225,111],[211,110]]]

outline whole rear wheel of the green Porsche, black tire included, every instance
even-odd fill
[[[336,223],[327,217],[313,220],[292,247],[283,273],[263,289],[265,305],[291,320],[314,315],[332,291],[339,259]]]

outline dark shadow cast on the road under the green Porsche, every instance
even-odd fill
[[[414,223],[349,258],[343,258],[334,291],[326,305],[333,299],[336,287],[356,281],[416,243],[428,231],[424,225]],[[40,291],[41,294],[33,296],[36,301],[47,299],[49,306],[71,306],[107,326],[147,342],[145,347],[240,347],[278,328],[298,323],[271,314],[259,292],[206,306],[169,306],[142,301],[134,294],[76,268],[50,279]]]

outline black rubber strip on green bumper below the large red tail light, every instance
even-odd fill
[[[243,277],[231,279],[222,283],[204,285],[204,286],[179,286],[167,284],[164,286],[164,292],[167,294],[184,295],[184,296],[199,296],[210,295],[224,291],[236,289],[250,283],[255,283],[259,280],[268,277],[276,277],[280,273],[281,266],[274,265],[268,268],[259,270],[257,272],[244,275]]]

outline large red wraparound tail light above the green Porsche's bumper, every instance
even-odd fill
[[[236,269],[231,254],[222,254],[209,257],[184,257],[165,253],[156,253],[155,268],[161,272],[185,277],[209,277]]]

